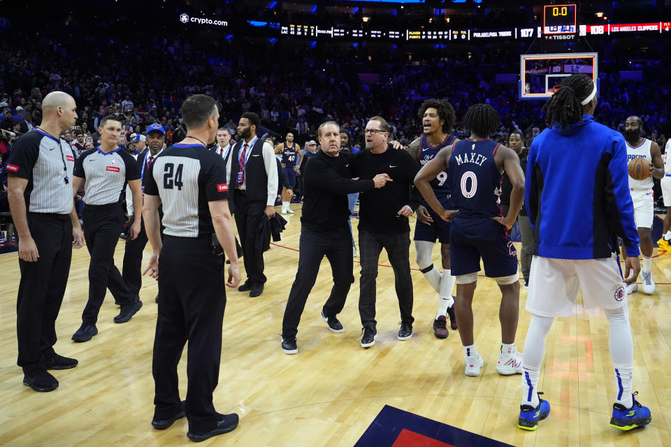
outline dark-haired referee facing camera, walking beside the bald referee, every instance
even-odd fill
[[[124,226],[121,193],[127,183],[133,194],[134,208],[142,209],[140,169],[137,161],[117,145],[121,126],[122,123],[115,116],[101,119],[98,127],[101,135],[100,146],[84,152],[75,165],[75,193],[86,179],[86,207],[82,218],[86,248],[91,254],[89,299],[82,312],[82,325],[72,336],[75,342],[88,342],[98,333],[96,321],[107,288],[115,302],[121,305],[121,312],[114,317],[115,323],[126,323],[142,307],[138,295],[129,292],[126,282],[114,265],[114,250]],[[139,232],[140,221],[134,221],[131,226],[131,239],[135,239]]]

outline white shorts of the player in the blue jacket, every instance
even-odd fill
[[[578,288],[587,309],[618,309],[627,303],[627,288],[615,255],[604,259],[533,256],[526,310],[540,316],[571,316]]]

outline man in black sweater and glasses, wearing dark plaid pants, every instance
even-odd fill
[[[363,191],[359,196],[359,253],[361,256],[361,346],[375,344],[375,295],[377,263],[384,248],[394,269],[398,307],[401,309],[399,340],[412,337],[412,278],[410,277],[410,226],[407,217],[419,206],[419,192],[413,187],[419,171],[417,159],[387,144],[389,124],[373,117],[366,124],[366,150],[354,161],[354,174],[370,179],[388,173],[393,183],[384,189]]]

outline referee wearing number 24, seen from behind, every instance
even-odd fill
[[[217,387],[222,356],[224,284],[236,287],[240,272],[225,164],[206,149],[217,133],[217,104],[210,96],[189,96],[182,104],[182,119],[186,138],[161,153],[145,179],[143,218],[153,248],[145,274],[158,277],[161,295],[152,366],[156,386],[152,425],[164,430],[187,416],[189,439],[204,441],[238,425],[237,414],[215,411],[212,392]],[[162,249],[160,203],[165,213]],[[222,249],[231,260],[228,282]],[[180,402],[177,365],[187,341],[184,404]]]

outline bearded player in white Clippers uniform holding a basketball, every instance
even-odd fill
[[[655,217],[654,199],[652,194],[652,177],[664,178],[662,154],[656,142],[643,138],[643,122],[639,117],[630,116],[624,122],[624,139],[627,142],[627,163],[633,159],[642,158],[650,163],[650,175],[647,179],[635,180],[629,177],[631,200],[634,203],[634,219],[638,227],[638,237],[641,244],[641,278],[643,291],[654,293],[655,281],[652,279],[652,221]],[[626,249],[626,247],[625,247]],[[628,286],[628,293],[638,290],[638,284],[633,281]]]

